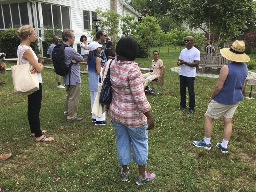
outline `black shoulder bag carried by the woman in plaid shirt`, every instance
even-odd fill
[[[112,89],[111,89],[111,82],[110,82],[110,65],[113,60],[110,61],[108,66],[108,73],[106,78],[103,81],[103,86],[100,92],[100,104],[101,105],[109,105],[112,101]]]

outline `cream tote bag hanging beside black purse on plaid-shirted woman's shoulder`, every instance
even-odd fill
[[[110,61],[111,61],[111,59],[108,60],[108,62],[107,62],[107,66],[106,66],[106,69],[105,69],[104,75],[103,75],[103,80],[106,78]],[[107,110],[106,105],[100,104],[100,92],[101,92],[102,86],[103,86],[103,81],[102,81],[102,83],[98,84],[98,92],[97,92],[96,98],[95,98],[93,106],[92,106],[92,114],[97,117],[102,117],[102,114]]]

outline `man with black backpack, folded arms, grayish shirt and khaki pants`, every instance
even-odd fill
[[[67,92],[64,113],[64,117],[67,117],[67,122],[83,120],[83,117],[76,117],[76,115],[81,93],[80,66],[78,62],[84,62],[84,58],[74,48],[70,47],[70,45],[74,43],[75,39],[74,31],[72,29],[63,30],[62,40],[63,45],[65,46],[65,64],[67,67],[71,65],[70,72],[63,76],[63,83],[66,85]]]

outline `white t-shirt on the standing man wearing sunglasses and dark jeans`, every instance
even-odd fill
[[[187,61],[189,63],[194,63],[195,60],[200,61],[200,51],[193,47],[192,49],[185,48],[180,52],[179,59],[183,61]],[[180,75],[187,77],[195,77],[196,76],[196,68],[189,67],[188,65],[181,65]]]

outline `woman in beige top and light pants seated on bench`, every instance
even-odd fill
[[[158,51],[153,51],[153,58],[154,60],[152,60],[150,72],[143,74],[145,78],[144,89],[146,88],[147,84],[154,79],[157,79],[156,82],[159,82],[163,75],[164,65],[163,65],[163,61],[158,59]],[[160,73],[160,76],[159,76],[159,73]]]

